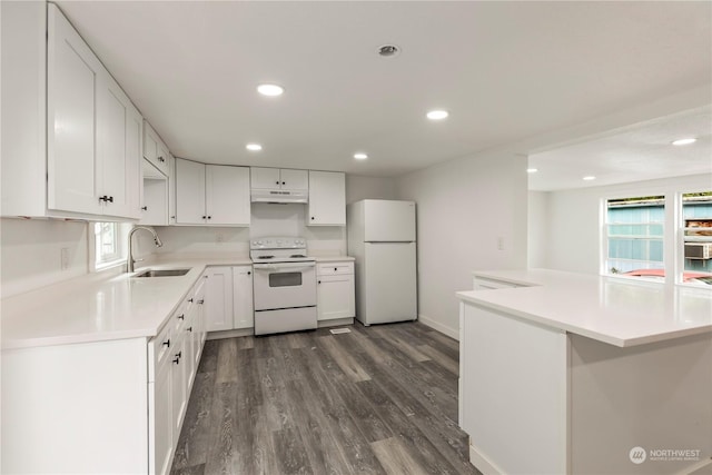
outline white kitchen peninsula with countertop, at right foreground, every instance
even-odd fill
[[[474,284],[459,425],[483,473],[709,468],[712,293],[544,269]]]

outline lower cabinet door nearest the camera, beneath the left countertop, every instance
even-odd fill
[[[161,365],[156,380],[148,385],[149,398],[149,473],[167,475],[174,453],[174,416],[171,406],[171,362]],[[177,441],[176,441],[177,442]]]

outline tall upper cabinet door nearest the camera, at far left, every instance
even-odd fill
[[[99,215],[95,118],[103,67],[55,4],[47,11],[47,206]]]

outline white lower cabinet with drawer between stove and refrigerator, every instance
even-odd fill
[[[354,263],[319,264],[316,281],[317,320],[356,316]]]

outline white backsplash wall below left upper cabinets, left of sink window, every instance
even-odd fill
[[[0,220],[1,296],[21,294],[87,273],[87,224],[57,219]],[[67,249],[62,269],[61,249]]]

